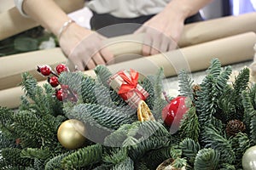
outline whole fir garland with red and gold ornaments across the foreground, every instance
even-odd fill
[[[200,84],[179,71],[175,98],[163,93],[162,69],[143,78],[104,65],[96,77],[65,65],[38,71],[49,83],[24,73],[20,107],[0,108],[2,169],[255,168],[248,68],[230,82],[231,67],[212,59]]]

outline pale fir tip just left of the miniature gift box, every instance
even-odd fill
[[[108,81],[112,77],[111,71],[108,70],[106,65],[97,65],[94,69],[98,81],[102,82],[105,87],[109,88]]]

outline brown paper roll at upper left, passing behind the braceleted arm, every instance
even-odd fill
[[[72,2],[69,0],[55,0],[55,3],[57,3],[66,13],[71,13],[84,6],[83,0],[73,0]],[[0,41],[22,31],[39,26],[34,20],[23,17],[15,7],[1,13],[0,20],[4,21],[0,25]]]

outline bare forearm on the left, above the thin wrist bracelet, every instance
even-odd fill
[[[70,2],[73,4],[70,4]],[[82,8],[84,6],[84,1],[25,0],[23,3],[23,10],[41,26],[44,26],[47,30],[53,32],[55,35],[58,35],[63,23],[70,20],[66,14],[66,12],[71,12],[70,6],[73,6],[73,10],[74,8]]]

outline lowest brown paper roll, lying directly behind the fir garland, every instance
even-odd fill
[[[180,48],[165,54],[156,54],[108,65],[108,69],[113,73],[122,69],[134,69],[148,75],[155,74],[160,67],[163,67],[165,76],[172,77],[177,75],[178,69],[181,68],[189,69],[190,71],[207,69],[212,58],[218,58],[223,65],[253,59],[253,45],[255,43],[256,34],[254,32],[247,32],[187,48]],[[185,62],[185,64],[181,62]],[[95,77],[94,71],[84,71],[84,74]],[[38,82],[41,86],[44,83],[47,82]],[[22,94],[23,92],[20,87],[1,90],[0,105],[16,108],[20,105],[20,96]]]

